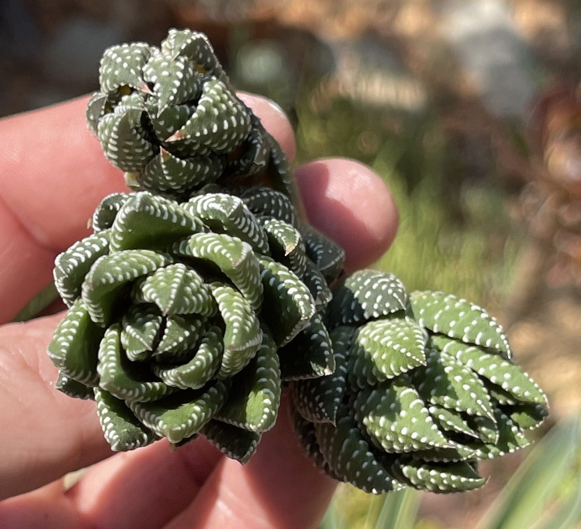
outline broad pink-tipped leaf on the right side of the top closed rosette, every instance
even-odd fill
[[[249,132],[250,116],[246,107],[223,81],[209,79],[202,85],[195,112],[166,143],[181,141],[227,153],[238,147]]]

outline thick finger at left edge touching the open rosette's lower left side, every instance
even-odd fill
[[[55,391],[46,346],[60,317],[0,327],[0,499],[111,454],[95,403]]]

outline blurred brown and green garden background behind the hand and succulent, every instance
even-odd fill
[[[289,115],[297,163],[371,165],[401,214],[376,267],[490,308],[547,390],[536,447],[482,490],[339,488],[324,529],[581,527],[577,0],[0,0],[0,116],[97,88],[106,46],[207,33]]]

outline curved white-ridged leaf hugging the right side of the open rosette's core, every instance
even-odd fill
[[[224,283],[211,283],[212,295],[224,320],[224,355],[218,378],[239,373],[260,348],[263,332],[256,313],[245,297]]]

